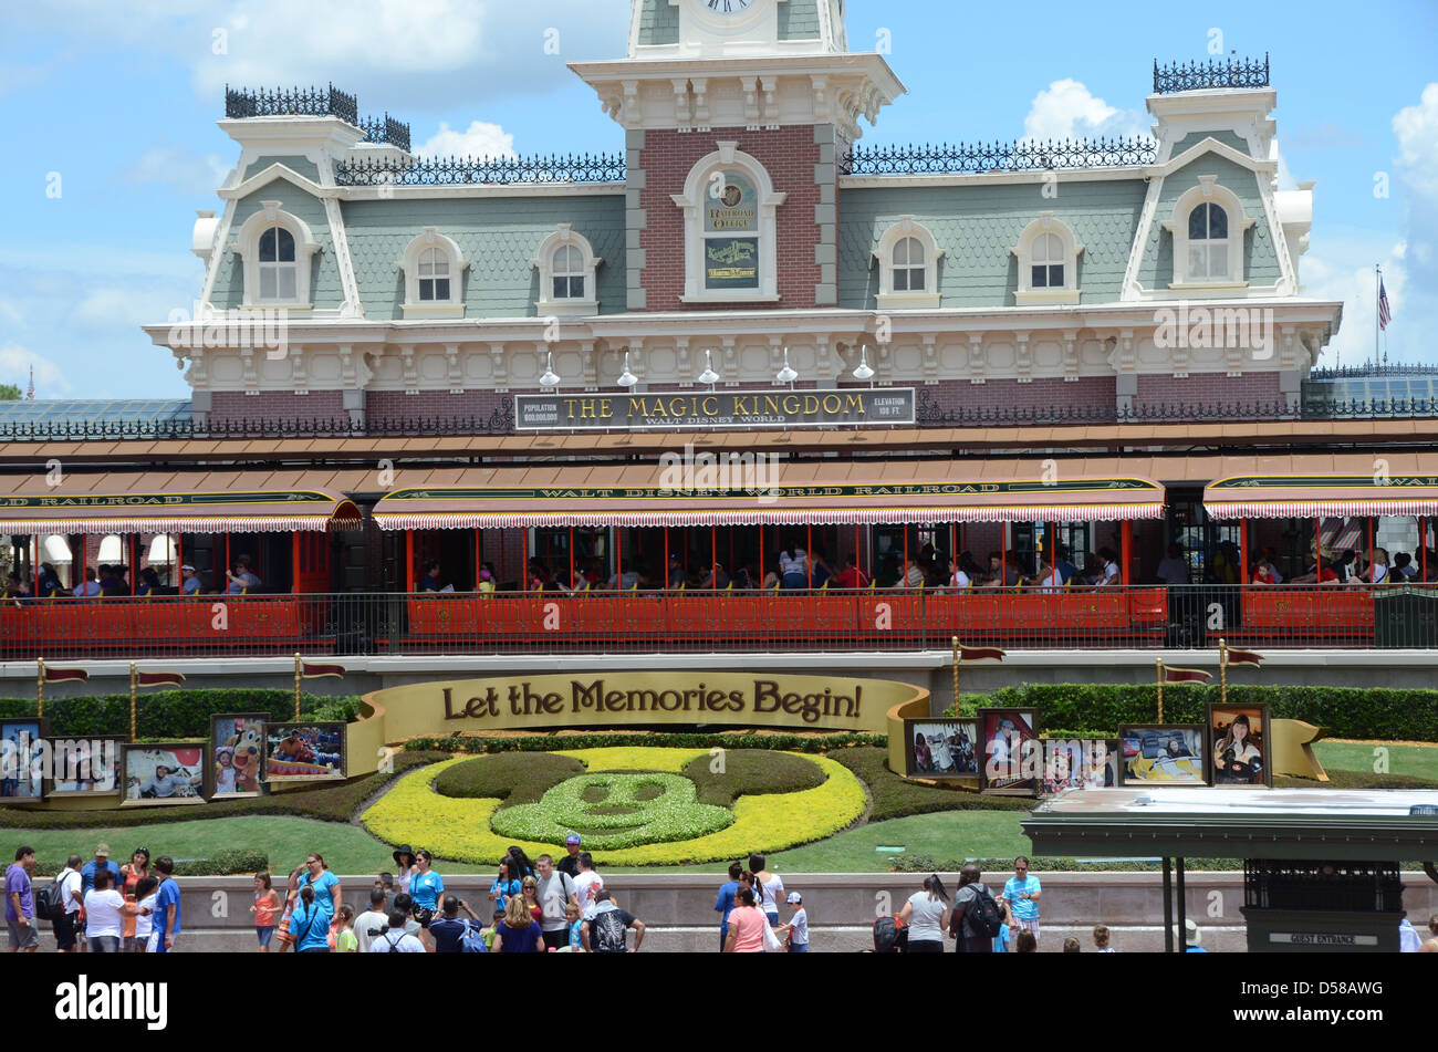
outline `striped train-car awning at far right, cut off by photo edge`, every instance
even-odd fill
[[[1204,507],[1214,519],[1438,516],[1438,470],[1399,474],[1375,463],[1370,474],[1219,479],[1204,490]]]

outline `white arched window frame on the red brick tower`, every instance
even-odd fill
[[[670,198],[684,213],[684,295],[683,303],[778,303],[778,208],[788,194],[774,190],[769,172],[754,157],[738,147],[738,142],[719,142],[719,149],[703,157],[689,170],[684,193],[670,194]],[[705,287],[705,194],[709,191],[709,177],[716,171],[739,168],[754,183],[759,207],[759,287],[758,289],[706,289]]]

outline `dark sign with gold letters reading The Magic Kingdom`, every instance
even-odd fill
[[[854,427],[915,423],[913,388],[538,394],[515,397],[519,431]]]

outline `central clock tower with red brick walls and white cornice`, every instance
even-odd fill
[[[633,0],[628,53],[569,66],[626,129],[630,310],[838,303],[838,168],[905,92],[844,0]]]

